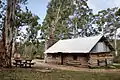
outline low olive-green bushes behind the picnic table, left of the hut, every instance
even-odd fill
[[[34,41],[34,42],[29,42],[26,41],[24,44],[21,44],[19,46],[19,53],[24,57],[24,58],[43,58],[44,57],[44,42],[41,41]]]

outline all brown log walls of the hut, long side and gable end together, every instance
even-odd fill
[[[74,60],[74,56],[77,56]],[[106,66],[112,64],[113,55],[110,53],[92,53],[89,56],[84,54],[62,54],[63,64],[64,65],[73,65],[73,66]],[[47,62],[53,64],[61,64],[62,58],[61,54],[48,54]]]

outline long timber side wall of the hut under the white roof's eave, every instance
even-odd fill
[[[73,66],[86,66],[88,65],[88,55],[87,54],[70,54],[64,53],[62,54],[63,64],[65,65],[73,65]],[[76,57],[76,59],[74,59]],[[61,54],[48,54],[47,62],[61,64]]]

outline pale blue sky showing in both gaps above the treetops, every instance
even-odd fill
[[[29,10],[40,17],[40,23],[42,23],[45,18],[49,1],[50,0],[28,0],[27,6]],[[103,9],[120,7],[120,0],[88,0],[87,3],[88,6],[93,9],[94,14]]]

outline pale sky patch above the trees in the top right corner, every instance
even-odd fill
[[[120,7],[120,0],[88,0],[88,6],[93,9],[93,13],[107,8]]]

